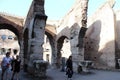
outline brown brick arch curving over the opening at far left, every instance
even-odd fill
[[[1,28],[9,29],[14,32],[19,42],[22,41],[22,30],[23,30],[23,19],[7,14],[0,14],[0,25]]]

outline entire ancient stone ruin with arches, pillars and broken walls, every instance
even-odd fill
[[[44,0],[33,0],[25,20],[0,15],[0,29],[18,36],[24,71],[37,77],[46,76],[47,66],[64,71],[70,55],[75,72],[120,68],[120,11],[114,11],[114,0],[109,0],[87,18],[88,2],[76,0],[58,21],[47,20]]]

